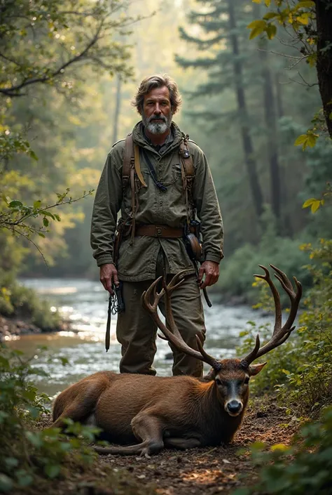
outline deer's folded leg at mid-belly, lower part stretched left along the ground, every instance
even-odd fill
[[[95,447],[98,454],[123,454],[149,457],[150,454],[158,454],[164,447],[162,441],[162,425],[155,416],[148,414],[137,414],[132,419],[132,431],[140,444],[128,445],[128,447]]]

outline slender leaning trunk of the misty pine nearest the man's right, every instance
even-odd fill
[[[263,194],[261,191],[261,185],[258,180],[256,160],[254,159],[254,147],[252,145],[251,136],[249,133],[249,116],[247,110],[246,98],[243,89],[243,74],[242,74],[242,62],[240,61],[240,49],[236,34],[236,20],[233,0],[228,0],[228,15],[230,25],[230,43],[233,50],[234,62],[233,69],[235,75],[235,87],[237,96],[237,106],[239,109],[240,122],[241,122],[241,135],[242,146],[244,151],[244,160],[247,166],[247,173],[249,176],[249,184],[251,188],[251,195],[254,200],[254,206],[258,219],[263,213]]]

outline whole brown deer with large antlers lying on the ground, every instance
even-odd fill
[[[275,328],[268,343],[256,345],[243,359],[219,361],[202,348],[188,347],[174,322],[171,294],[183,282],[185,272],[175,275],[158,293],[155,280],[142,295],[142,303],[162,331],[163,337],[174,347],[209,364],[212,369],[202,379],[192,376],[156,377],[148,375],[116,374],[99,371],[83,378],[60,393],[53,408],[53,426],[63,427],[64,418],[97,425],[107,440],[124,447],[95,447],[99,454],[155,454],[163,447],[188,449],[228,443],[240,427],[249,396],[249,379],[265,366],[252,364],[255,359],[281,345],[289,338],[302,295],[300,282],[294,277],[296,291],[286,275],[270,265],[282,288],[289,296],[291,310],[282,326],[279,293],[263,267],[265,275],[254,275],[268,282],[275,301]],[[158,302],[165,298],[166,322],[158,316]],[[153,298],[153,302],[151,302]],[[139,442],[137,444],[137,441]],[[136,442],[136,444],[134,444]]]

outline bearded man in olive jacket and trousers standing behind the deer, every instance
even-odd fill
[[[172,296],[172,312],[184,341],[198,349],[195,336],[205,340],[200,290],[219,278],[223,223],[205,154],[172,121],[181,105],[177,84],[167,75],[146,77],[133,105],[141,115],[130,138],[134,157],[130,159],[128,140],[118,141],[109,152],[95,197],[91,246],[104,288],[113,293],[121,284],[125,311],[116,328],[120,373],[155,375],[157,328],[141,307],[141,294],[156,277],[170,279],[188,270]],[[189,177],[184,170],[188,160],[193,165]],[[203,258],[197,277],[184,235],[198,220]],[[159,307],[165,315],[162,300]],[[201,361],[174,348],[172,352],[174,375],[202,376]]]

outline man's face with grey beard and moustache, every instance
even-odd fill
[[[166,86],[153,88],[144,96],[141,119],[152,134],[163,134],[172,123],[170,91]]]

